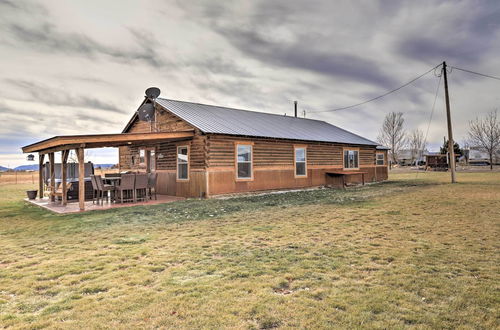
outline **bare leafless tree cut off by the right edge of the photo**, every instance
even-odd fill
[[[488,154],[490,169],[493,170],[493,155],[500,149],[500,122],[497,119],[497,110],[486,115],[485,118],[476,118],[469,122],[469,143]]]

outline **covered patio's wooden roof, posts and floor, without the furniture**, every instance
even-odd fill
[[[131,205],[160,204],[182,199],[176,196],[158,195],[157,200],[147,200],[140,203],[106,204],[96,205],[92,201],[85,201],[85,184],[79,184],[78,203],[68,203],[68,156],[74,150],[78,159],[78,182],[85,182],[85,150],[105,147],[121,146],[148,146],[165,141],[182,141],[194,136],[193,130],[177,132],[152,132],[152,133],[120,133],[120,134],[94,134],[94,135],[67,135],[55,136],[53,138],[36,142],[22,148],[24,153],[39,154],[39,168],[43,167],[45,156],[49,163],[49,198],[44,198],[43,176],[39,175],[38,198],[29,200],[31,203],[49,209],[57,213],[81,212]],[[61,201],[56,201],[55,180],[55,153],[61,153]],[[146,151],[148,152],[148,151]],[[150,157],[145,157],[146,162]],[[146,172],[150,172],[149,164],[146,164]]]

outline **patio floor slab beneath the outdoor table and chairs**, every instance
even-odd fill
[[[43,207],[44,209],[47,209],[49,211],[55,212],[55,213],[60,213],[60,214],[65,214],[65,213],[78,213],[78,212],[87,212],[87,211],[97,211],[97,210],[108,210],[108,209],[113,209],[113,208],[118,208],[118,207],[131,207],[131,206],[136,206],[136,205],[156,205],[156,204],[165,204],[165,203],[171,203],[171,202],[176,202],[180,200],[184,200],[184,197],[177,197],[177,196],[168,196],[168,195],[158,195],[158,199],[153,199],[149,201],[142,201],[142,202],[137,202],[137,203],[109,203],[109,202],[104,202],[103,205],[101,204],[94,204],[92,201],[86,201],[85,202],[85,211],[80,211],[80,207],[78,205],[78,202],[68,202],[66,206],[62,206],[60,202],[56,201],[54,203],[50,202],[48,198],[42,198],[42,199],[34,199],[34,200],[29,200],[25,198],[24,200],[30,204],[36,205]]]

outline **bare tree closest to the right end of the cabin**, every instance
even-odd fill
[[[391,150],[389,150],[389,157],[394,164],[398,162],[398,154],[406,144],[404,122],[405,120],[402,112],[391,112],[387,114],[377,138],[380,144],[391,148]]]

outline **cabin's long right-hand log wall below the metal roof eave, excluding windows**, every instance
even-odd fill
[[[253,180],[236,180],[237,142],[253,143]],[[295,145],[307,148],[307,176],[304,178],[295,177]],[[343,150],[347,147],[359,150],[358,171],[367,172],[366,182],[387,179],[387,166],[375,165],[376,149],[371,146],[209,135],[207,137],[209,194],[315,187],[327,183],[340,185],[340,178],[330,178],[327,182],[325,172],[343,170]],[[361,175],[346,176],[345,181],[361,182]]]

